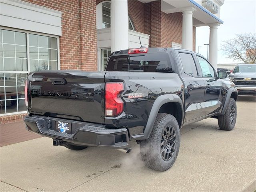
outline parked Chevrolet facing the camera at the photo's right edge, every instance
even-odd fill
[[[256,94],[256,64],[238,64],[228,78],[239,95]]]

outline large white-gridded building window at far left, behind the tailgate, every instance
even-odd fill
[[[0,114],[26,111],[27,74],[57,70],[57,54],[57,38],[0,29]]]

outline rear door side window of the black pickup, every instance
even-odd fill
[[[190,76],[198,77],[196,64],[194,62],[192,54],[179,53],[179,55],[180,55],[183,71]]]

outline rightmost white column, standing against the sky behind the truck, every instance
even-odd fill
[[[209,62],[217,70],[218,62],[218,23],[210,24]]]

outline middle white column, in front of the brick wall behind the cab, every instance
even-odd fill
[[[182,49],[193,50],[193,11],[190,6],[182,8]]]

